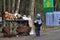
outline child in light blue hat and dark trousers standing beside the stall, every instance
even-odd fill
[[[34,25],[35,25],[35,32],[36,32],[36,36],[40,36],[40,27],[42,26],[42,20],[40,18],[40,14],[38,13],[36,15],[35,21],[34,21]]]

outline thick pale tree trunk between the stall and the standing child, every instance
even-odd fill
[[[31,15],[31,18],[32,18],[32,24],[34,21],[34,3],[35,3],[35,0],[30,0],[29,14]],[[34,30],[35,30],[34,25],[32,25],[32,29],[31,29],[30,34],[35,34]]]

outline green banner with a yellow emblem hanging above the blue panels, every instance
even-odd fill
[[[43,7],[44,7],[44,12],[53,12],[54,11],[53,0],[44,0]]]

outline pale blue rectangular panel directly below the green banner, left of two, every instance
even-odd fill
[[[46,13],[46,26],[54,26],[53,12],[47,12]]]

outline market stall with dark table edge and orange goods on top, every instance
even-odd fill
[[[15,17],[14,17],[15,18]],[[29,27],[29,20],[24,20],[24,18],[18,17],[13,19],[10,14],[5,14],[5,19],[2,20],[3,28],[2,32],[4,36],[13,35],[29,35],[31,27]]]

